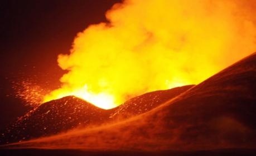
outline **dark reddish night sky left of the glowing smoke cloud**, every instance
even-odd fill
[[[11,81],[31,78],[56,88],[64,73],[57,55],[69,53],[76,33],[104,22],[105,11],[116,2],[120,0],[0,1],[0,129],[29,109],[13,97]]]

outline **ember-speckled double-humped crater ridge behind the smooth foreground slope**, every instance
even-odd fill
[[[77,127],[84,128],[133,117],[157,107],[192,86],[194,85],[139,95],[119,107],[109,110],[95,107],[93,104],[73,96],[52,100],[31,110],[3,130],[0,135],[0,144],[45,137]]]

